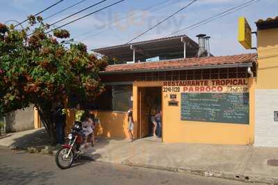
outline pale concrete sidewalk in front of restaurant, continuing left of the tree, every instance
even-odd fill
[[[47,143],[41,138],[46,137],[44,134],[43,129],[19,132],[0,139],[0,145],[19,148],[42,146]],[[161,143],[157,138],[143,138],[130,143],[128,140],[99,138],[94,148],[85,151],[86,155],[101,162],[245,182],[278,183],[278,166],[268,166],[268,160],[278,159],[278,148]]]

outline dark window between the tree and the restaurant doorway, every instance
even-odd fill
[[[100,111],[128,111],[132,107],[132,85],[106,86],[106,91],[102,93],[90,109]]]

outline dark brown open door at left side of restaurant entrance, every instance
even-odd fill
[[[139,88],[139,122],[140,122],[140,131],[139,136],[140,138],[144,138],[145,136],[149,135],[149,109],[147,107],[147,104],[145,103],[145,95],[146,95],[146,89],[145,88]]]

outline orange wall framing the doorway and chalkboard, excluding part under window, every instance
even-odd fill
[[[138,87],[163,86],[163,81],[133,83],[134,120],[137,122]],[[177,93],[179,106],[168,106],[170,93],[162,93],[163,142],[214,143],[247,145],[254,143],[254,79],[249,79],[250,124],[227,124],[181,120],[181,93]]]

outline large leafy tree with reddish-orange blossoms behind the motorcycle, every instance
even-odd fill
[[[88,54],[82,43],[63,40],[70,37],[66,30],[46,34],[42,17],[28,20],[30,26],[40,24],[31,36],[29,27],[19,31],[0,23],[0,115],[35,104],[44,124],[51,124],[54,102],[72,95],[89,101],[104,91],[99,72],[108,63]]]

